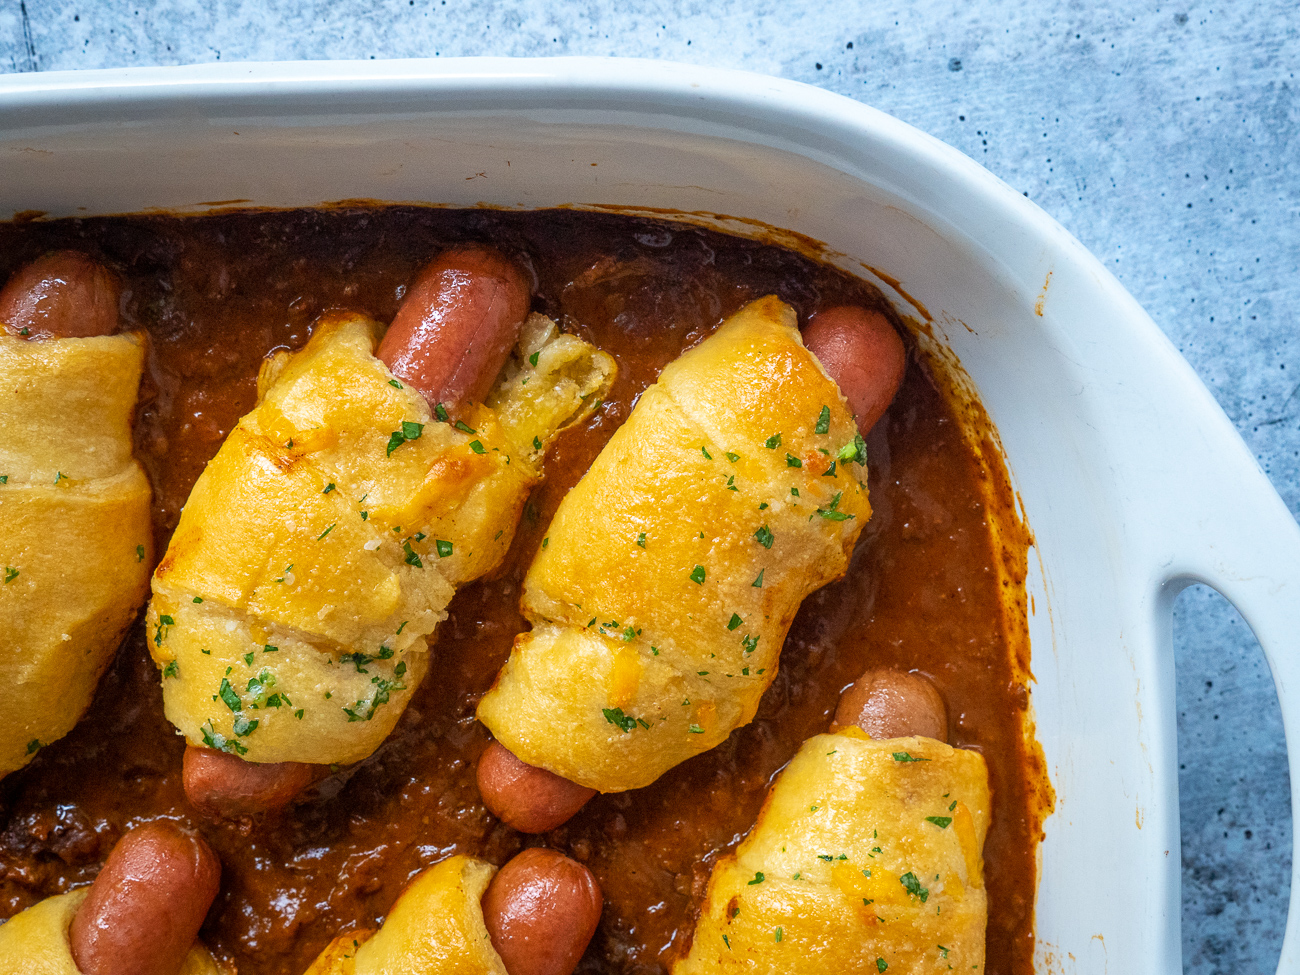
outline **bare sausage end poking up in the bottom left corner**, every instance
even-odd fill
[[[166,822],[133,829],[73,916],[73,961],[82,975],[177,975],[220,881],[198,836]]]

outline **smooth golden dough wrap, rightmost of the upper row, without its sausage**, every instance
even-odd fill
[[[562,502],[525,581],[533,629],[478,719],[601,792],[714,748],[753,719],[803,597],[848,568],[866,478],[794,311],[750,303],[663,370]]]

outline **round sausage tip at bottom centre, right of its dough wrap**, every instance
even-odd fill
[[[555,850],[524,850],[497,871],[484,923],[510,975],[571,975],[603,906],[592,871]]]

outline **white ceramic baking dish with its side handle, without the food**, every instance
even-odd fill
[[[905,315],[924,306],[998,429],[1036,538],[1034,705],[1058,798],[1041,846],[1037,968],[1180,971],[1171,604],[1190,581],[1236,603],[1294,736],[1300,529],[1173,346],[1060,225],[858,103],[689,65],[0,78],[3,218],[341,199],[725,213],[824,242]],[[1291,783],[1300,809],[1294,758]],[[1294,927],[1287,971],[1300,966]]]

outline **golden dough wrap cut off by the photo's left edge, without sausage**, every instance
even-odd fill
[[[144,599],[136,335],[0,335],[0,776],[61,738]]]

